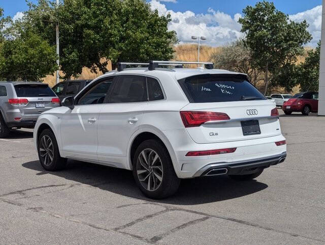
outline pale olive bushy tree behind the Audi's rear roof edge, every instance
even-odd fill
[[[211,59],[217,69],[247,74],[254,86],[264,80],[263,71],[253,67],[251,49],[244,44],[244,40],[237,40],[222,47],[221,51],[212,54]]]

